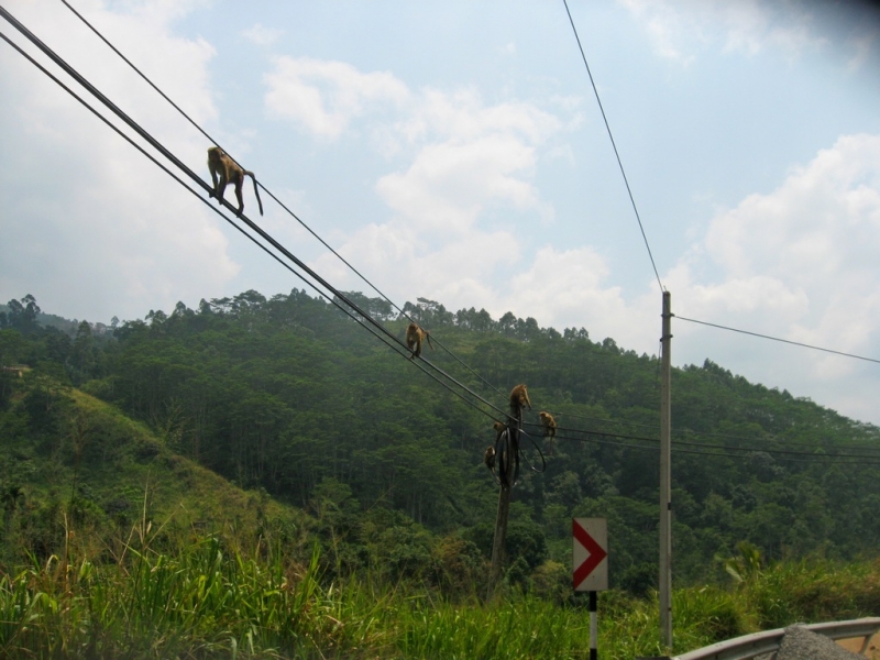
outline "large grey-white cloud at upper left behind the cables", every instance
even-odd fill
[[[207,70],[213,51],[172,35],[170,23],[185,7],[78,9],[205,120],[216,114]],[[191,167],[204,166],[202,141],[185,120],[73,14],[51,3],[8,8]],[[0,51],[0,68],[3,102],[14,108],[0,119],[0,290],[10,297],[33,293],[56,314],[107,321],[167,309],[185,296],[198,299],[209,285],[234,276],[238,266],[207,209],[16,53]],[[85,300],[82,290],[89,292]]]

